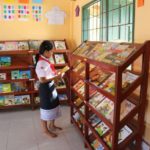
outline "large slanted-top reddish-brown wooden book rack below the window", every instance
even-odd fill
[[[126,50],[131,49],[132,51],[126,55]],[[146,41],[144,44],[122,43],[119,45],[86,41],[77,47],[73,53],[68,54],[71,67],[69,81],[71,122],[77,127],[84,138],[85,145],[90,150],[98,148],[101,150],[126,149],[134,142],[135,149],[141,150],[147,101],[149,49],[150,41]],[[103,53],[101,53],[102,51]],[[118,59],[122,52],[125,57],[120,61]],[[106,53],[107,55],[105,55]],[[112,55],[114,58],[110,57]],[[142,59],[142,64],[138,67],[140,69],[135,71],[132,66],[139,57]],[[81,63],[84,66],[83,69],[81,69]],[[99,84],[95,84],[97,82],[92,81],[91,74],[93,66],[96,67],[96,71],[100,69],[111,73],[111,75],[103,78],[103,74],[101,74]],[[77,70],[76,68],[80,69]],[[133,73],[131,80],[130,77],[124,77],[123,74],[126,72]],[[115,86],[105,88],[112,74],[115,75],[114,80],[112,80]],[[132,77],[136,78],[132,80]],[[95,93],[100,93],[101,96],[94,102]],[[125,104],[127,100],[128,103]],[[94,104],[96,102],[97,105]],[[134,107],[131,109],[128,108],[128,105]],[[93,125],[92,115],[99,118],[99,123],[96,125]]]

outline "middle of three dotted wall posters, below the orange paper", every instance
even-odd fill
[[[28,21],[29,20],[29,6],[28,5],[18,5],[18,20]]]

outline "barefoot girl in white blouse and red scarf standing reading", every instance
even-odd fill
[[[52,55],[53,45],[50,41],[43,41],[40,45],[39,54],[36,55],[36,74],[40,81],[40,115],[44,133],[51,137],[57,137],[54,129],[62,128],[55,126],[55,119],[60,116],[59,99],[54,85],[54,80],[62,76],[57,73],[54,65],[49,62]],[[48,128],[48,122],[50,126]],[[50,129],[50,130],[49,130]]]

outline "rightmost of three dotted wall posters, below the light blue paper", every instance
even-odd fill
[[[32,17],[36,22],[42,21],[42,6],[32,6]]]

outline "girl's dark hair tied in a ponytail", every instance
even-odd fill
[[[53,49],[53,45],[50,41],[48,41],[48,40],[43,41],[40,45],[39,53],[36,54],[36,56],[35,56],[36,64],[39,60],[40,55],[42,55],[45,51],[50,51],[52,49]]]

